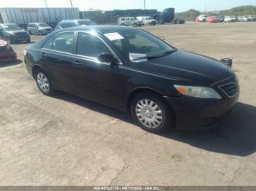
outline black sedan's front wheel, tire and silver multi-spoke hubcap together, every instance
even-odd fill
[[[175,117],[169,106],[154,93],[136,95],[132,100],[131,112],[140,127],[150,132],[164,131],[175,124]]]

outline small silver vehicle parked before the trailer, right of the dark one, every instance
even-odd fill
[[[27,31],[29,34],[47,35],[53,31],[53,28],[46,23],[29,23]]]

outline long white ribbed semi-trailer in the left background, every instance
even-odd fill
[[[61,20],[78,19],[78,8],[0,8],[0,23],[48,23],[55,26]]]

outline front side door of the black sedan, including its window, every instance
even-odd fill
[[[74,69],[75,90],[79,95],[103,104],[121,107],[124,92],[123,70],[118,66],[97,61],[97,55],[111,50],[99,37],[80,32],[79,55],[75,61],[80,66]]]

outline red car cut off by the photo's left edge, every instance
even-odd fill
[[[0,39],[0,63],[2,61],[16,61],[17,54],[10,44]]]

